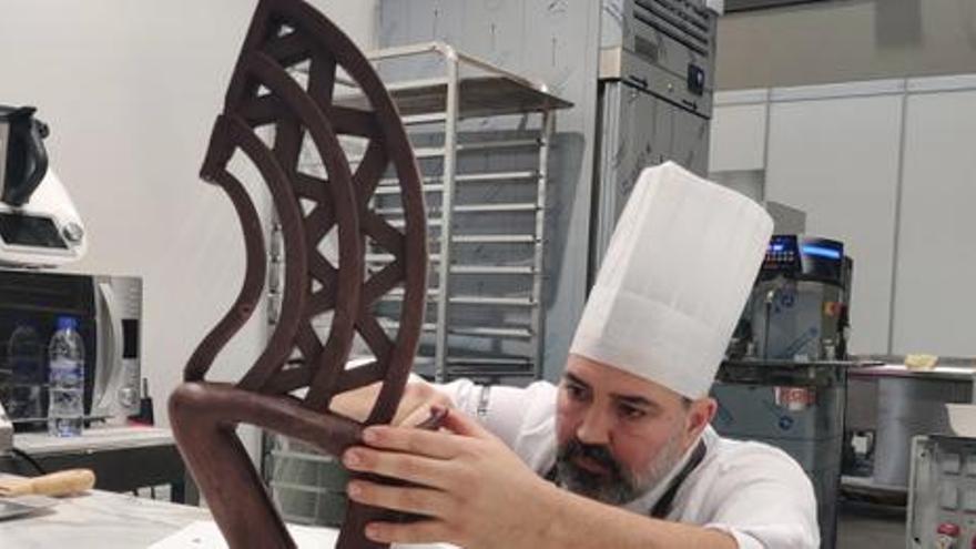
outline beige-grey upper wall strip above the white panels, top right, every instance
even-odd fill
[[[719,20],[721,90],[976,72],[973,0],[843,0]]]

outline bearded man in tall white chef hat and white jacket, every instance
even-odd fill
[[[397,421],[448,406],[445,428],[370,427],[368,446],[343,456],[349,469],[415,485],[354,480],[352,499],[429,517],[373,523],[367,536],[467,548],[816,548],[803,470],[709,426],[709,387],[771,231],[744,196],[671,163],[647,170],[558,388],[411,384]]]

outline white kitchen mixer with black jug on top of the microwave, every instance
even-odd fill
[[[49,166],[48,125],[32,106],[0,105],[0,263],[53,266],[88,248],[68,191]]]

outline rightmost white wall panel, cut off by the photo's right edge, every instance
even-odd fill
[[[976,91],[913,94],[894,353],[976,355]]]

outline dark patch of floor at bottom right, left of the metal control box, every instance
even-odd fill
[[[905,510],[866,504],[842,504],[836,549],[905,547]]]

